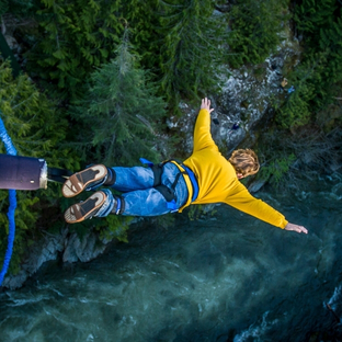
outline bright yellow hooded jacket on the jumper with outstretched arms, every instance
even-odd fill
[[[210,134],[210,113],[201,110],[195,125],[193,153],[184,161],[198,182],[198,196],[191,203],[191,195],[182,212],[190,204],[226,203],[230,206],[262,219],[273,226],[285,228],[284,215],[261,200],[253,197],[240,183],[231,163],[219,152]],[[185,178],[187,189],[191,187]],[[192,191],[190,191],[192,192]]]

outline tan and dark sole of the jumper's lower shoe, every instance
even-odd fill
[[[65,213],[65,220],[68,224],[77,224],[92,217],[105,200],[106,194],[104,192],[95,192],[87,201],[71,205]]]

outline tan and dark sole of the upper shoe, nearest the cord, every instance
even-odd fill
[[[103,164],[92,166],[83,171],[73,173],[65,181],[61,193],[67,198],[73,197],[80,194],[87,185],[102,180],[106,174],[107,169]]]

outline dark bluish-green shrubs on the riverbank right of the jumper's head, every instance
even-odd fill
[[[341,126],[323,132],[310,124],[298,127],[296,134],[267,127],[254,148],[262,161],[256,178],[284,192],[289,185],[303,186],[303,179],[335,172],[341,168]]]

